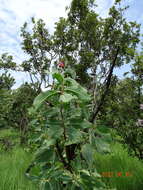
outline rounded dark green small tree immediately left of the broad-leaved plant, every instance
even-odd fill
[[[20,132],[21,144],[27,142],[27,134],[29,132],[28,108],[31,107],[37,92],[31,85],[25,83],[19,89],[13,91],[12,107],[9,113],[11,125]]]

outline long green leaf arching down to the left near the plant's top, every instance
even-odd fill
[[[54,90],[49,90],[49,91],[42,92],[41,94],[39,94],[39,95],[35,98],[34,103],[33,103],[35,109],[38,109],[38,108],[41,106],[41,104],[42,104],[46,99],[48,99],[48,98],[50,98],[50,97],[52,97],[52,96],[54,96],[54,95],[57,95],[57,94],[59,94],[59,92],[56,92],[56,91],[54,91]]]

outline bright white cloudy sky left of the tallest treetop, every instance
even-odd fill
[[[7,44],[7,51],[11,53],[13,43],[20,43],[20,27],[32,16],[42,18],[53,31],[59,16],[66,15],[65,5],[69,3],[70,0],[60,3],[57,0],[0,0],[0,42]],[[5,48],[1,47],[0,53],[3,51]]]

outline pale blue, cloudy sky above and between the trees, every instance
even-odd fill
[[[126,13],[129,21],[143,23],[143,0],[122,0],[125,5],[130,5]],[[24,22],[30,22],[31,17],[42,18],[49,31],[54,31],[54,23],[59,17],[66,17],[65,7],[71,0],[0,0],[0,54],[8,52],[13,55],[17,63],[26,59],[21,50],[20,27]],[[114,0],[96,0],[96,11],[101,17],[107,17],[109,8]],[[142,30],[143,31],[143,30]],[[124,66],[118,72],[122,76],[129,66]],[[16,79],[15,87],[28,79],[26,74],[12,73]]]

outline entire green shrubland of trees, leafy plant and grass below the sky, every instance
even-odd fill
[[[120,0],[104,19],[94,8],[73,0],[52,35],[32,18],[21,27],[27,60],[1,55],[2,190],[142,189],[141,25],[123,17]],[[125,64],[131,71],[119,79]],[[13,89],[11,71],[30,82]]]

